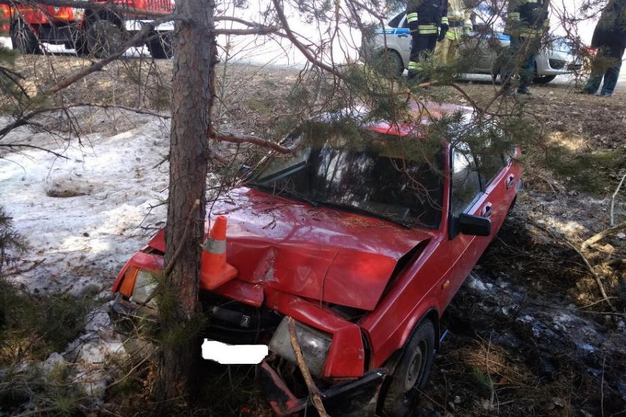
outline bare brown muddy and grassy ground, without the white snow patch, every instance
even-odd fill
[[[39,56],[20,58],[16,68],[37,76],[35,91],[86,65]],[[214,117],[221,130],[271,136],[289,113],[285,97],[303,93],[292,88],[302,75],[297,69],[218,70]],[[171,63],[131,59],[71,86],[63,99],[162,111],[170,79]],[[481,105],[499,88],[488,81],[458,86]],[[435,88],[444,101],[468,104],[455,88]],[[522,144],[524,191],[445,314],[449,333],[416,416],[626,416],[626,282],[618,266],[600,266],[626,258],[626,236],[615,233],[580,251],[584,240],[609,227],[611,196],[626,173],[626,91],[605,99],[575,89],[533,86],[531,97],[516,98],[535,128]],[[48,127],[123,128],[106,117],[80,116]],[[218,150],[229,155],[231,148]],[[615,224],[626,220],[626,186],[612,210]]]

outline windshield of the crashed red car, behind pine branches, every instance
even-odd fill
[[[303,129],[288,137],[286,143],[294,152],[265,159],[247,185],[313,206],[352,211],[408,227],[439,227],[443,188],[440,145],[371,130],[359,130],[356,139],[354,131],[314,131]],[[406,156],[407,148],[413,157]]]

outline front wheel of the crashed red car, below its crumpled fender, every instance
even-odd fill
[[[435,356],[435,326],[424,319],[415,328],[381,398],[383,416],[408,416],[430,375]]]

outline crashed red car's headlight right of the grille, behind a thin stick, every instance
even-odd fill
[[[278,329],[269,342],[269,350],[278,353],[290,362],[297,363],[296,353],[294,353],[289,337],[288,320],[289,318],[285,317],[281,324],[278,324]],[[314,376],[321,377],[326,365],[332,336],[296,321],[296,338],[309,371]]]

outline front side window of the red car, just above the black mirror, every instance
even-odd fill
[[[450,212],[459,215],[482,193],[475,160],[467,144],[455,144],[451,175]]]

